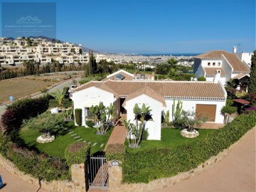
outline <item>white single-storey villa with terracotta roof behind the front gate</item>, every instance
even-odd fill
[[[115,73],[114,75],[118,75]],[[126,74],[126,73],[125,73]],[[148,139],[161,139],[161,119],[170,111],[175,100],[183,102],[183,110],[195,111],[208,115],[209,122],[223,123],[220,110],[225,106],[226,92],[220,82],[220,73],[215,74],[214,82],[195,81],[146,81],[115,80],[91,81],[70,92],[74,109],[82,109],[82,125],[91,118],[90,107],[103,102],[112,103],[117,116],[127,114],[127,120],[134,122],[134,105],[142,107],[144,103],[151,112],[146,117],[145,128],[149,131]],[[177,102],[176,102],[177,103]]]

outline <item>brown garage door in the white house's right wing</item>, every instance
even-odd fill
[[[215,122],[216,105],[196,105],[196,117],[208,116],[208,122]]]

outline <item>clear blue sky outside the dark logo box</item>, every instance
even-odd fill
[[[45,2],[56,2],[58,39],[94,50],[203,53],[232,51],[233,46],[245,52],[255,49],[255,0]]]

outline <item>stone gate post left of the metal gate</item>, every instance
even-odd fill
[[[85,183],[85,171],[85,164],[73,164],[71,166],[71,176],[75,186],[75,192],[85,192],[87,189]]]

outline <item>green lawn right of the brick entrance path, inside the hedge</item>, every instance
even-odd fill
[[[213,132],[214,129],[199,129],[199,136],[193,139],[182,137],[180,132],[181,129],[173,128],[163,128],[161,129],[161,141],[156,140],[144,140],[140,143],[139,149],[131,149],[127,147],[128,151],[141,151],[144,149],[154,148],[154,147],[167,147],[174,148],[181,144],[188,144],[195,140],[201,139],[206,136],[206,134]],[[125,144],[128,146],[128,140],[125,141]]]

